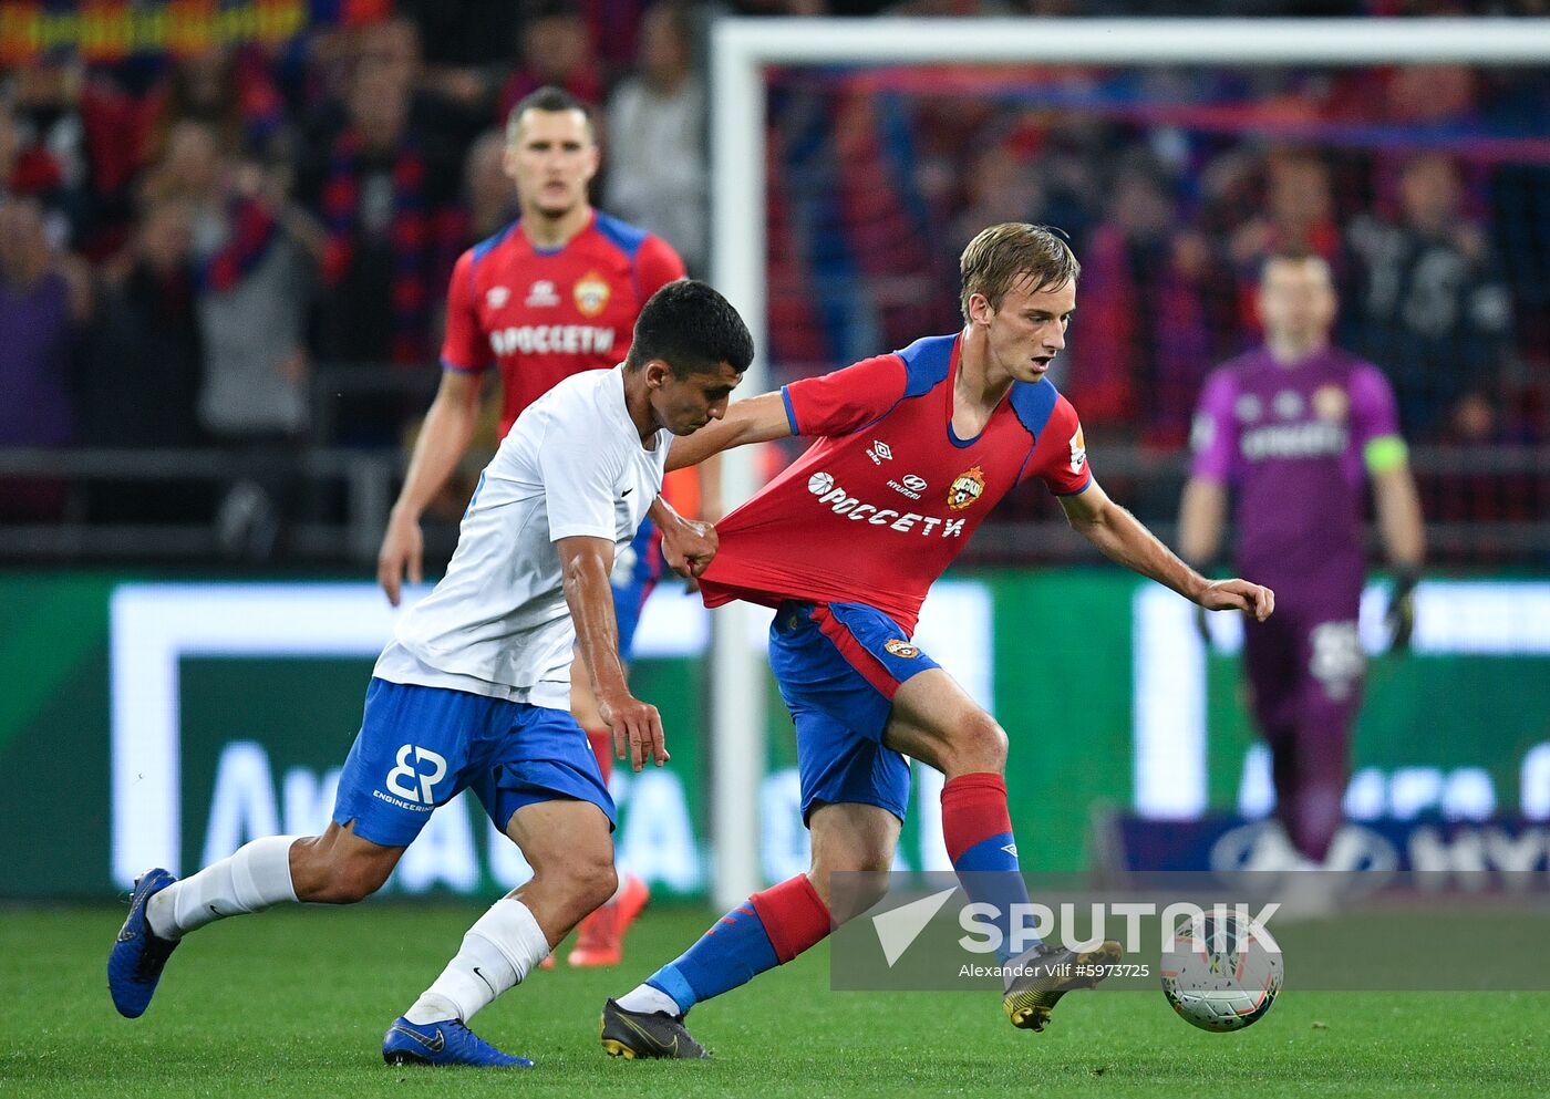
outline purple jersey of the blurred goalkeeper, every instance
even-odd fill
[[[1259,347],[1212,374],[1195,414],[1194,476],[1235,490],[1242,574],[1355,600],[1362,450],[1398,431],[1378,367],[1335,347],[1291,366]]]

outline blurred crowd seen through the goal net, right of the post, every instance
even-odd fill
[[[1338,338],[1389,374],[1412,440],[1545,437],[1542,73],[789,71],[775,102],[777,172],[800,181],[770,188],[777,361],[950,329],[963,245],[1043,220],[1083,265],[1057,383],[1108,437],[1184,445],[1286,248],[1330,260]]]

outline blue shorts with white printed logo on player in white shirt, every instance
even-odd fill
[[[372,843],[408,846],[465,787],[502,832],[538,801],[591,801],[614,823],[597,756],[564,710],[374,677],[333,820],[353,820]]]

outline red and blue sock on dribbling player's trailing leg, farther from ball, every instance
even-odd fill
[[[676,961],[646,978],[680,1012],[746,984],[829,935],[829,908],[798,874],[739,904]]]

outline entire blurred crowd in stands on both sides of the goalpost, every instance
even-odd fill
[[[273,453],[313,437],[319,364],[434,378],[451,265],[513,215],[501,124],[542,84],[601,109],[595,203],[707,276],[702,73],[718,12],[1209,14],[1145,0],[395,11],[282,51],[5,74],[0,446]],[[1063,386],[1110,439],[1178,448],[1204,374],[1254,336],[1259,260],[1300,246],[1335,265],[1342,339],[1390,374],[1412,439],[1536,443],[1545,132],[1542,71],[794,71],[772,90],[770,357],[778,375],[804,374],[950,330],[961,245],[992,222],[1040,220],[1083,260]],[[322,442],[401,445],[415,392],[384,384],[330,415]],[[57,485],[0,493],[0,519],[59,507]]]

